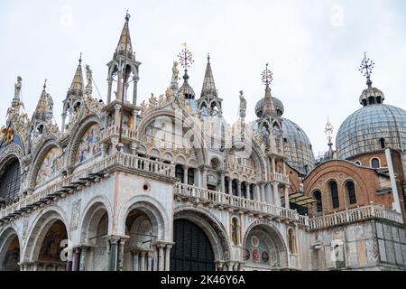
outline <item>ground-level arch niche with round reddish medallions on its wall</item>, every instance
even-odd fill
[[[248,270],[277,270],[288,266],[283,238],[267,224],[256,224],[247,230],[243,252]]]

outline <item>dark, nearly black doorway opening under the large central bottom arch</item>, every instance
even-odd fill
[[[215,271],[215,256],[208,236],[188,219],[173,222],[171,271]]]

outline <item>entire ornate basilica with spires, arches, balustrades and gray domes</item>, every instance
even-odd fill
[[[245,122],[241,91],[227,124],[209,58],[199,96],[185,47],[168,89],[138,103],[133,48],[127,16],[105,101],[80,59],[61,126],[46,85],[28,117],[17,78],[0,136],[1,271],[406,269],[406,111],[384,104],[372,61],[361,108],[315,160],[268,67],[257,118]]]

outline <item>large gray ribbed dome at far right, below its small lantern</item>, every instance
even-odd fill
[[[406,148],[406,111],[383,104],[367,105],[347,117],[339,128],[337,157],[348,159],[379,151],[382,139],[386,147]]]

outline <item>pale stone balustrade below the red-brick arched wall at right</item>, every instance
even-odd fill
[[[345,210],[330,215],[309,219],[309,228],[327,228],[364,219],[388,219],[393,222],[401,224],[403,223],[400,213],[387,210],[376,205],[370,205],[354,210]]]

